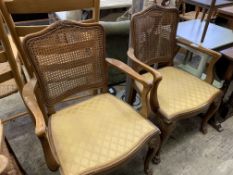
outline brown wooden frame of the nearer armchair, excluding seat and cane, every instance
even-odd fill
[[[84,28],[84,27],[101,27],[102,28],[102,26],[99,24],[80,24],[80,23],[69,22],[69,21],[62,21],[61,23],[65,24],[65,25],[67,24],[67,25],[71,25],[71,26],[79,26],[81,28]],[[32,34],[32,35],[26,37],[25,40],[28,40],[29,38],[43,35],[44,33],[49,32],[51,29],[53,30],[54,28],[58,27],[56,25],[58,25],[58,24],[55,23],[43,31],[37,32],[36,34]],[[25,50],[26,50],[26,47],[27,47],[26,44],[24,44]],[[105,49],[105,43],[103,43],[103,49]],[[26,51],[26,53],[28,54],[27,51]],[[28,58],[29,58],[29,55],[28,55]],[[152,84],[147,82],[140,74],[138,74],[132,68],[130,68],[126,64],[120,62],[119,60],[106,58],[105,69],[107,69],[107,64],[118,68],[119,70],[128,74],[132,79],[139,81],[144,87],[144,90],[142,92],[142,94],[143,94],[142,98],[147,97],[148,92],[150,91],[150,88],[152,87]],[[37,79],[40,80],[40,75],[38,73],[36,73],[35,70],[34,70],[34,73],[36,74]],[[56,154],[54,153],[53,148],[50,146],[51,143],[49,141],[48,132],[47,132],[47,130],[48,130],[48,126],[47,126],[48,117],[50,117],[50,115],[53,114],[55,111],[54,111],[54,109],[51,109],[49,106],[47,106],[47,111],[49,113],[47,115],[43,114],[41,107],[38,105],[38,100],[41,100],[40,98],[38,98],[38,96],[43,96],[42,91],[40,91],[39,94],[37,93],[37,89],[38,89],[38,87],[40,87],[40,85],[41,85],[40,82],[38,83],[37,80],[31,79],[23,88],[23,99],[24,99],[26,106],[28,107],[28,109],[32,113],[32,116],[35,120],[35,133],[41,141],[47,165],[50,168],[50,170],[57,170],[59,167],[59,162],[58,162]],[[107,85],[108,85],[107,81],[105,81],[103,84],[98,85],[98,87],[86,87],[82,91],[85,91],[88,89],[99,89],[100,93],[106,93],[107,92]],[[78,91],[76,90],[76,91],[73,91],[72,93],[77,93],[77,92]],[[66,98],[69,95],[66,94],[63,98]],[[61,102],[61,101],[62,101],[62,99],[56,101],[54,103],[54,105],[56,103]],[[148,103],[143,104],[143,106],[144,105],[147,106]],[[146,107],[144,107],[144,108],[146,108]],[[141,114],[144,114],[144,111],[141,111]],[[149,169],[149,162],[152,159],[153,154],[159,148],[160,137],[157,134],[153,138],[149,138],[146,142],[149,143],[149,150],[148,150],[148,153],[147,153],[147,156],[145,159],[144,171],[146,174],[151,174],[151,171]],[[128,157],[127,159],[129,159],[129,158],[130,157]],[[99,174],[99,173],[103,173],[106,171],[110,171],[112,168],[124,163],[125,161],[126,160],[121,160],[120,162],[116,162],[115,164],[112,164],[110,166],[105,166],[102,169],[96,170],[95,173]]]

